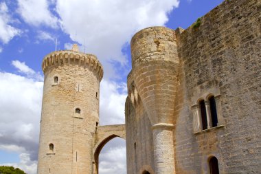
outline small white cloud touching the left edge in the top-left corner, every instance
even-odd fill
[[[8,43],[14,36],[19,36],[21,30],[12,26],[13,20],[10,16],[8,6],[5,2],[0,3],[0,41]]]

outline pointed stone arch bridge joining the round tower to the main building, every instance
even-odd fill
[[[93,173],[98,174],[99,155],[104,145],[113,138],[122,138],[126,140],[125,124],[115,124],[109,126],[97,127],[93,146]]]

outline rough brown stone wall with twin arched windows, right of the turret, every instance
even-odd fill
[[[177,30],[177,45],[176,173],[209,173],[212,155],[220,173],[260,172],[261,2],[225,1]],[[219,96],[221,127],[195,133],[192,107],[208,94]]]

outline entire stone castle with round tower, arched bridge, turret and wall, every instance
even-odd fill
[[[128,174],[261,173],[261,1],[226,0],[190,28],[131,41],[126,124],[99,125],[102,65],[52,52],[38,174],[98,174],[109,140],[126,139]]]

